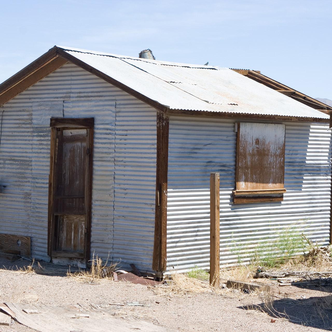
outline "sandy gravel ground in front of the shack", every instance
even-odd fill
[[[274,307],[286,317],[276,318],[272,323],[272,315],[254,309],[255,304],[262,303],[256,292],[245,294],[241,290],[227,289],[218,294],[207,291],[198,295],[161,296],[147,286],[124,281],[83,283],[66,277],[67,268],[63,266],[42,263],[48,274],[17,271],[28,264],[30,263],[27,261],[11,263],[0,259],[0,303],[72,305],[92,302],[101,308],[107,308],[115,316],[133,316],[167,327],[170,331],[332,330],[332,311],[327,310],[325,316],[318,317],[313,310],[313,303],[317,299],[329,299],[332,296],[331,290],[327,289],[272,286],[275,294]],[[49,274],[50,271],[52,275]],[[127,302],[134,301],[142,303],[143,306],[127,305]],[[0,326],[0,331],[35,330],[12,320],[11,326]]]

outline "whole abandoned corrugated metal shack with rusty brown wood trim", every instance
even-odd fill
[[[332,109],[259,72],[54,46],[0,105],[0,233],[32,257],[208,268],[211,172],[221,265],[290,225],[330,241]]]

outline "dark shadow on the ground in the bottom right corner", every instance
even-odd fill
[[[284,318],[294,324],[331,331],[331,289],[320,289],[319,291],[322,291],[322,296],[300,299],[283,298],[274,301],[265,300],[259,304],[250,304],[238,308],[264,311],[272,318]],[[330,295],[326,295],[326,293]]]

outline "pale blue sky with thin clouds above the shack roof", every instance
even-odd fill
[[[0,81],[53,45],[260,70],[332,99],[332,1],[4,1]]]

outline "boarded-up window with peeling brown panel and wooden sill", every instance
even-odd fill
[[[282,201],[285,125],[237,124],[234,203]]]

